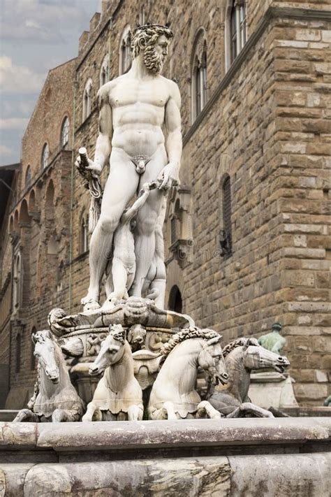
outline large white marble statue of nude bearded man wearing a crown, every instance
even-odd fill
[[[159,180],[158,187],[150,192],[137,215],[136,267],[129,293],[142,296],[151,266],[158,266],[153,258],[157,253],[159,235],[156,231],[163,196],[179,183],[182,154],[179,89],[175,82],[160,74],[172,36],[168,27],[156,24],[135,29],[131,69],[107,82],[98,92],[99,134],[94,160],[87,159],[89,165],[85,168],[93,175],[100,175],[110,155],[110,174],[103,192],[100,217],[91,236],[90,282],[87,295],[82,298],[84,310],[100,305],[101,279],[126,206],[140,185],[156,180]],[[80,156],[76,166],[82,169]],[[158,267],[162,273],[161,264]],[[164,287],[164,275],[160,276],[156,276],[156,280]],[[117,276],[113,284],[117,287]]]

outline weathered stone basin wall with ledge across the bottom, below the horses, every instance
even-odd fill
[[[0,428],[0,495],[330,495],[329,418]]]

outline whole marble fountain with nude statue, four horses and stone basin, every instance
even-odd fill
[[[288,359],[254,338],[222,349],[219,333],[164,309],[158,228],[182,152],[179,90],[160,75],[171,38],[169,27],[135,29],[131,69],[99,91],[94,160],[81,150],[76,161],[91,192],[110,154],[89,291],[82,312],[51,310],[50,329],[32,337],[34,396],[1,426],[8,495],[328,493],[330,423],[274,419],[249,401],[251,370],[283,373]]]

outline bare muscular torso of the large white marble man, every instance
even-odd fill
[[[151,157],[164,147],[165,105],[174,84],[161,75],[137,80],[128,73],[101,88],[103,100],[112,108],[112,148],[129,157]]]

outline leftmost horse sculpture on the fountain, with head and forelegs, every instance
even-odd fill
[[[18,412],[14,422],[80,421],[84,403],[71,384],[64,355],[48,330],[32,335],[38,359],[38,377],[29,409]]]

